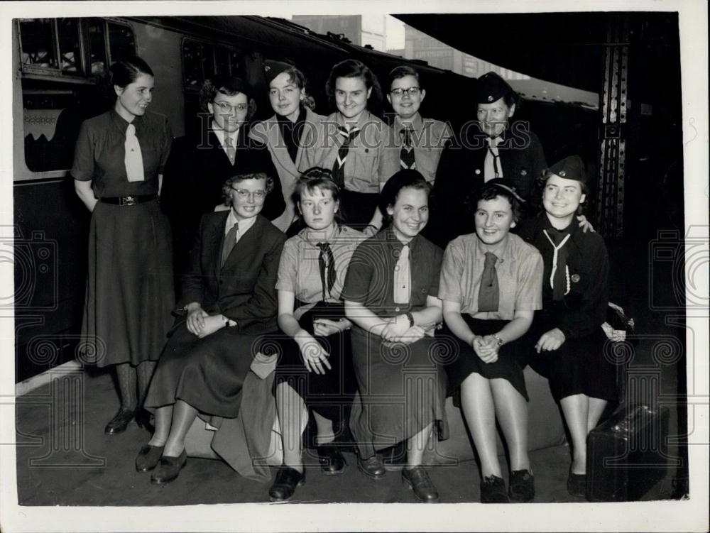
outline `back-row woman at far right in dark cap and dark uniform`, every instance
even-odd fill
[[[473,194],[493,178],[510,180],[528,201],[524,214],[532,214],[538,203],[530,202],[535,180],[547,166],[540,140],[528,124],[511,121],[519,97],[503,78],[495,72],[479,77],[474,96],[476,122],[444,148],[432,190],[432,220],[425,234],[442,247],[475,231]]]

